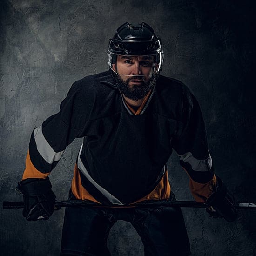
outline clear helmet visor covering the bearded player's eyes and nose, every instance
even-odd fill
[[[108,51],[108,65],[120,76],[141,76],[149,79],[159,74],[162,68],[163,53],[152,55],[119,55]]]

